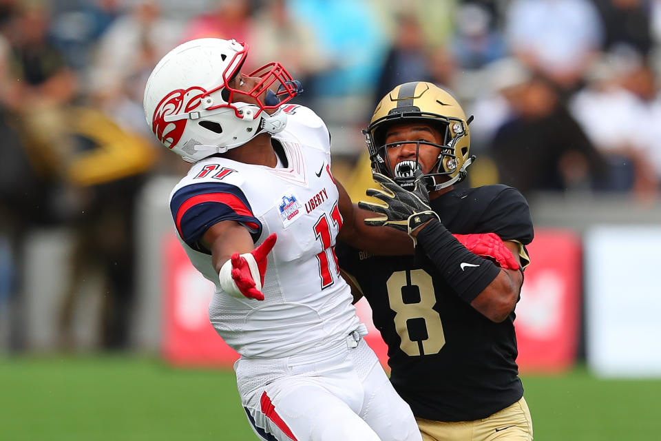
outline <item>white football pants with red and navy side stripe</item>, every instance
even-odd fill
[[[364,340],[314,356],[242,358],[234,369],[261,440],[422,440],[410,407]]]

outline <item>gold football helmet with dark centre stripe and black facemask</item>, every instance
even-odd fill
[[[423,144],[439,149],[439,156],[432,170],[424,175],[428,189],[432,191],[449,187],[465,178],[466,168],[475,158],[468,156],[468,124],[472,121],[472,116],[467,120],[461,105],[452,95],[437,85],[424,81],[398,85],[377,105],[370,125],[363,130],[372,169],[394,179],[405,189],[413,187],[414,173],[420,168],[419,155],[416,152],[415,162],[402,161],[397,164],[393,173],[386,150],[388,147],[401,145],[401,142],[386,144],[384,141],[387,127],[412,121],[431,123],[443,136],[443,145],[411,140],[411,143],[417,143],[417,150]]]

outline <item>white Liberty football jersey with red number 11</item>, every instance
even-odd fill
[[[350,288],[339,276],[335,238],[342,227],[330,174],[330,135],[312,110],[286,105],[280,141],[286,167],[206,158],[174,188],[170,207],[191,263],[216,285],[211,324],[244,357],[280,358],[337,344],[359,328]],[[225,294],[199,240],[211,225],[236,220],[255,245],[269,234],[264,300]]]

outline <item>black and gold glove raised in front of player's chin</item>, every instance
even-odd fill
[[[429,193],[423,181],[423,174],[419,170],[416,172],[415,184],[410,192],[383,174],[373,173],[372,177],[381,186],[381,189],[370,188],[366,194],[380,199],[384,203],[359,201],[358,206],[362,209],[382,215],[365,219],[366,225],[373,227],[387,225],[407,232],[410,236],[428,220],[433,218],[441,220],[429,206]]]

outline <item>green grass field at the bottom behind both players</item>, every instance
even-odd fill
[[[661,439],[661,380],[524,376],[535,439]],[[256,440],[232,371],[112,356],[0,358],[0,440]]]

